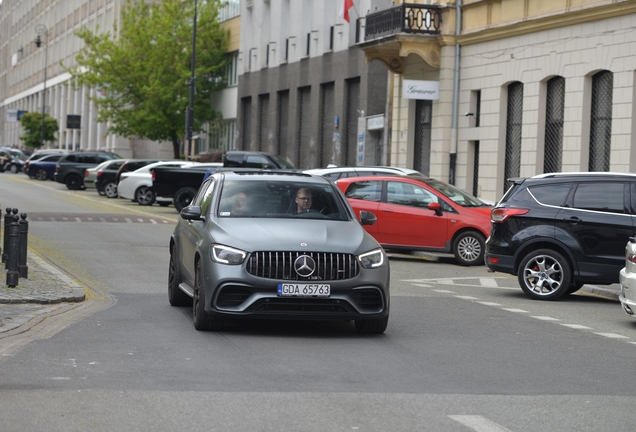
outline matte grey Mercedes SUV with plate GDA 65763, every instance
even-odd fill
[[[234,318],[354,321],[383,333],[389,261],[342,193],[320,176],[225,171],[211,175],[170,239],[168,294],[192,304],[197,330]]]

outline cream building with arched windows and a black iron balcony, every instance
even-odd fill
[[[393,73],[393,165],[489,200],[511,177],[636,168],[635,1],[386,3],[359,47]],[[436,99],[405,97],[421,82]]]

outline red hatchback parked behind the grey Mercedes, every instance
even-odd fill
[[[452,253],[462,265],[484,262],[492,206],[439,180],[373,176],[336,182],[349,204],[374,213],[365,229],[387,250]]]

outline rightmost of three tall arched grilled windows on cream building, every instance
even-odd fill
[[[612,144],[612,89],[614,75],[602,71],[592,77],[590,116],[590,171],[609,171]]]

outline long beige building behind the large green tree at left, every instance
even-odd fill
[[[87,27],[93,31],[97,28],[112,31],[120,20],[124,4],[125,0],[3,0],[0,3],[0,145],[20,146],[19,137],[23,132],[17,121],[18,113],[42,112],[44,107],[48,115],[57,119],[60,128],[57,142],[51,146],[107,150],[122,157],[173,157],[169,142],[109,134],[109,125],[97,122],[95,104],[89,99],[96,95],[95,90],[74,87],[71,76],[60,65],[60,62],[66,67],[76,64],[75,55],[82,44],[74,34],[77,30]],[[240,1],[226,2],[219,19],[230,30],[230,48],[235,58]],[[40,47],[35,43],[38,36]],[[217,110],[227,116],[218,122],[225,127],[206,126],[195,141],[197,153],[226,145],[228,137],[223,131],[234,130],[235,69],[228,68],[228,82],[234,83],[234,90],[222,90],[214,98]]]

